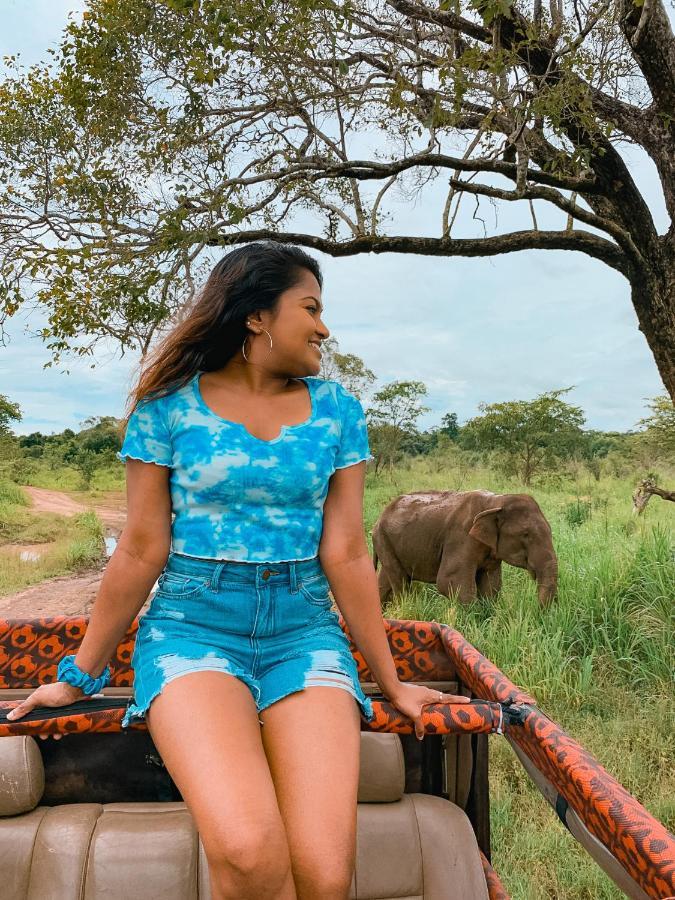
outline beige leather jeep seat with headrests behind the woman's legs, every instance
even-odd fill
[[[478,845],[453,803],[404,794],[396,734],[361,734],[351,898],[487,900]],[[208,867],[182,802],[40,806],[35,738],[0,738],[3,900],[204,900]]]

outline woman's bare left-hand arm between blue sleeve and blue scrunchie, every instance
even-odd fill
[[[127,521],[108,561],[75,664],[98,677],[147,600],[171,547],[167,466],[126,463]]]

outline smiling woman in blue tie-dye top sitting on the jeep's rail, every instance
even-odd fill
[[[159,576],[122,725],[145,719],[213,900],[349,894],[359,713],[372,708],[329,589],[418,737],[439,701],[396,675],[363,528],[363,408],[315,377],[330,334],[321,286],[301,249],[242,246],[159,344],[133,393],[127,524],[86,635],[13,716],[100,690]]]

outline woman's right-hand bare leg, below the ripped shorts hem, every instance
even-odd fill
[[[346,690],[315,685],[260,718],[298,897],[346,897],[356,855],[356,701]]]

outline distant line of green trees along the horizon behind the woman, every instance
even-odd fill
[[[596,479],[603,460],[611,461],[609,471],[617,475],[636,470],[651,475],[659,460],[675,463],[675,408],[666,395],[649,403],[651,415],[640,420],[640,431],[585,429],[581,408],[563,399],[571,387],[533,400],[480,403],[479,414],[462,425],[457,413],[446,412],[440,425],[421,430],[418,419],[431,411],[422,403],[427,394],[423,382],[391,381],[366,400],[375,376],[358,357],[337,352],[328,355],[321,376],[340,380],[362,401],[376,474],[420,456],[435,458],[440,470],[446,457],[457,453],[526,486],[570,463],[584,465]],[[0,474],[13,481],[29,482],[44,465],[68,466],[88,488],[97,469],[121,465],[115,456],[123,439],[121,420],[114,416],[86,419],[78,432],[66,428],[58,434],[17,436],[10,423],[20,420],[18,405],[0,394]]]

